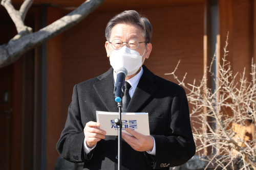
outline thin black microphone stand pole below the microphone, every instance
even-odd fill
[[[118,127],[118,170],[122,167],[122,101],[117,103],[119,109],[119,117],[115,119],[115,123]]]

